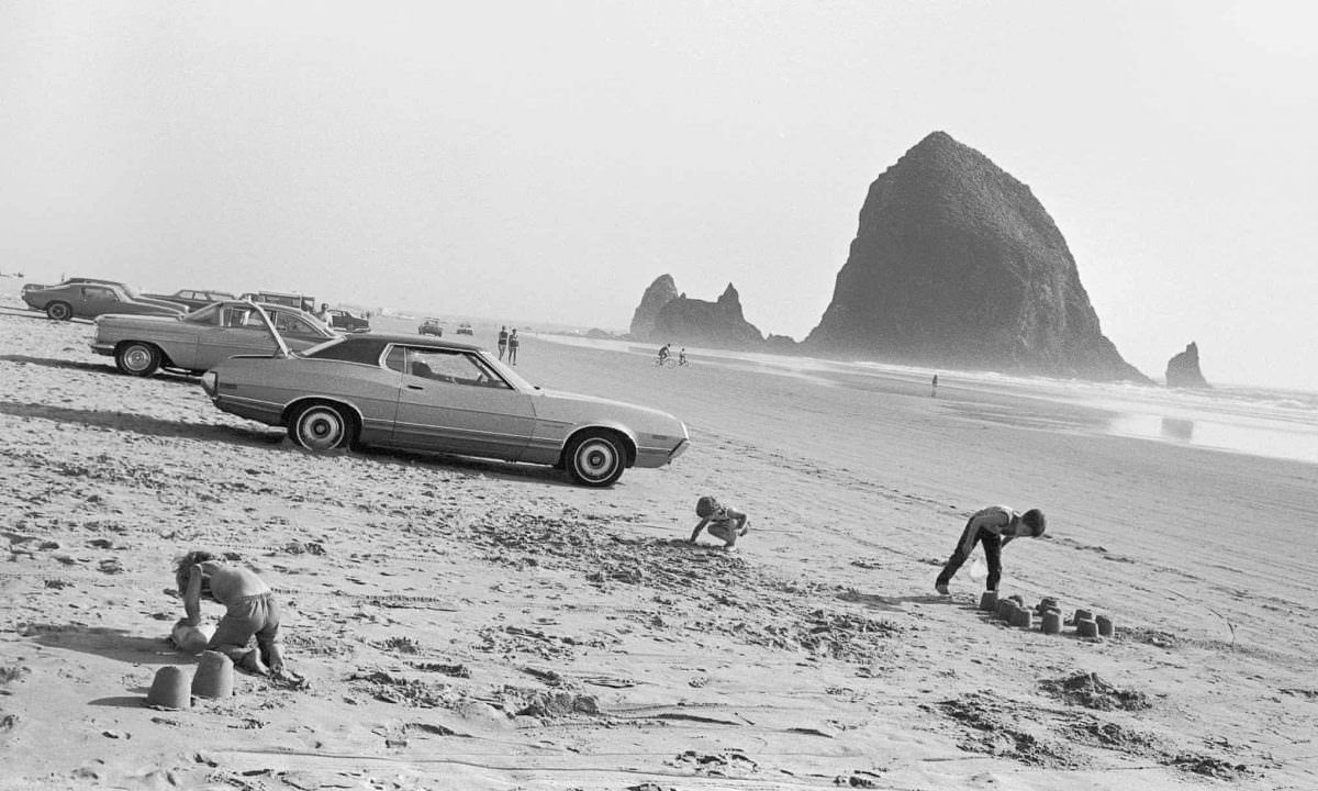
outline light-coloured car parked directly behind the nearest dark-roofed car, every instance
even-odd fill
[[[314,316],[283,305],[262,305],[289,347],[306,349],[337,334]],[[279,345],[250,302],[212,302],[182,316],[104,315],[91,349],[115,359],[124,373],[150,376],[161,368],[203,373],[232,355],[269,355]]]

